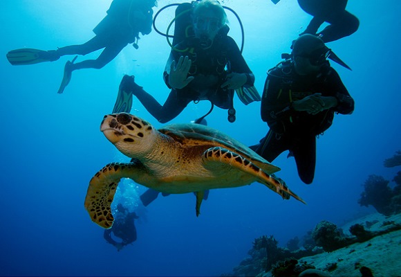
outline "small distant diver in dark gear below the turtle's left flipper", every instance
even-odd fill
[[[136,241],[136,227],[134,220],[139,217],[136,213],[129,213],[128,209],[122,206],[122,204],[117,205],[117,210],[114,215],[114,222],[111,229],[105,229],[103,233],[103,238],[106,242],[113,244],[113,247],[120,251],[123,247]],[[115,237],[120,238],[122,241],[117,242],[111,237],[111,233]]]

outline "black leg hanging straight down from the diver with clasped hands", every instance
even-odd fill
[[[290,150],[297,163],[299,178],[305,184],[312,183],[315,177],[316,137],[313,135],[298,137]]]

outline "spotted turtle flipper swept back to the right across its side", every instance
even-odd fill
[[[274,177],[274,175],[268,175],[248,159],[245,159],[244,157],[241,157],[239,154],[236,154],[230,150],[221,147],[209,148],[203,153],[203,161],[205,164],[216,162],[223,163],[237,168],[243,172],[247,172],[257,178],[255,181],[264,184],[273,190],[274,193],[281,195],[283,199],[290,199],[290,196],[292,196],[300,202],[306,204],[304,200],[293,193],[281,179]]]

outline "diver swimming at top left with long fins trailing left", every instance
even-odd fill
[[[111,62],[127,44],[138,48],[139,33],[151,33],[153,10],[157,0],[113,0],[107,15],[93,29],[95,37],[79,45],[65,46],[57,50],[43,51],[33,48],[21,48],[7,53],[12,65],[53,62],[63,55],[86,55],[104,48],[96,60],[84,60],[74,63],[77,57],[64,66],[64,77],[57,93],[63,93],[77,69],[101,69]]]

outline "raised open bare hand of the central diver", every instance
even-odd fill
[[[191,65],[192,60],[189,60],[188,56],[181,56],[178,59],[177,65],[176,61],[171,62],[169,75],[170,87],[174,89],[182,89],[183,87],[186,87],[189,82],[194,80],[194,76],[187,77]]]

